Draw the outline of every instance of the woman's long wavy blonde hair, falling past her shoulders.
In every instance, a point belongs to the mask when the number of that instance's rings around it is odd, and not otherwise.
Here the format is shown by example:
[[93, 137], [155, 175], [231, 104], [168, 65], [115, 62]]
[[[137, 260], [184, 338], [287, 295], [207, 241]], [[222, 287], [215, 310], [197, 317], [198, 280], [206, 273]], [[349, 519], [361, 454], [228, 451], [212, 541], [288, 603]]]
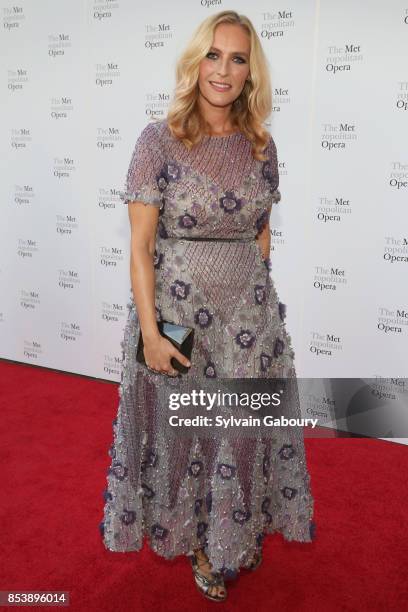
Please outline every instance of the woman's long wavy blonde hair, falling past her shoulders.
[[250, 38], [250, 77], [232, 104], [231, 119], [234, 128], [252, 142], [253, 157], [265, 161], [262, 151], [270, 134], [262, 124], [272, 109], [269, 66], [251, 21], [235, 11], [221, 11], [207, 17], [194, 32], [177, 62], [176, 87], [167, 113], [167, 124], [172, 135], [182, 140], [188, 149], [198, 144], [206, 133], [207, 122], [197, 104], [199, 65], [209, 52], [215, 28], [220, 23], [238, 24]]

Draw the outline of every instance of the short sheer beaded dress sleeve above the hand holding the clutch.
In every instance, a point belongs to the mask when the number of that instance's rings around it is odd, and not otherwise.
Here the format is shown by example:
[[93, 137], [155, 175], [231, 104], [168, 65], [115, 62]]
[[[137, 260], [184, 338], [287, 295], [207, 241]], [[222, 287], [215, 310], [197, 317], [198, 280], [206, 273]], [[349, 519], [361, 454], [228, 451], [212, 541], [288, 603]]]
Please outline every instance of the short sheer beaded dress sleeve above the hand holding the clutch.
[[142, 130], [133, 149], [127, 172], [125, 190], [120, 198], [125, 204], [135, 200], [160, 207], [164, 182], [160, 181], [164, 154], [154, 123]]

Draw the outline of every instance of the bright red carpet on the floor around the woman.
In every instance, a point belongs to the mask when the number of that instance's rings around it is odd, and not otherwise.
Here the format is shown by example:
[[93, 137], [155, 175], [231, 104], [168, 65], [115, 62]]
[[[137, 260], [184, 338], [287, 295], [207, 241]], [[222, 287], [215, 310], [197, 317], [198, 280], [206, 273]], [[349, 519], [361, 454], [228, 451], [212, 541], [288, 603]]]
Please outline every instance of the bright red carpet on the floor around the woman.
[[207, 603], [186, 558], [103, 547], [117, 385], [1, 360], [0, 380], [0, 590], [69, 591], [73, 612], [407, 609], [406, 446], [306, 439], [316, 540], [268, 536], [261, 567]]

